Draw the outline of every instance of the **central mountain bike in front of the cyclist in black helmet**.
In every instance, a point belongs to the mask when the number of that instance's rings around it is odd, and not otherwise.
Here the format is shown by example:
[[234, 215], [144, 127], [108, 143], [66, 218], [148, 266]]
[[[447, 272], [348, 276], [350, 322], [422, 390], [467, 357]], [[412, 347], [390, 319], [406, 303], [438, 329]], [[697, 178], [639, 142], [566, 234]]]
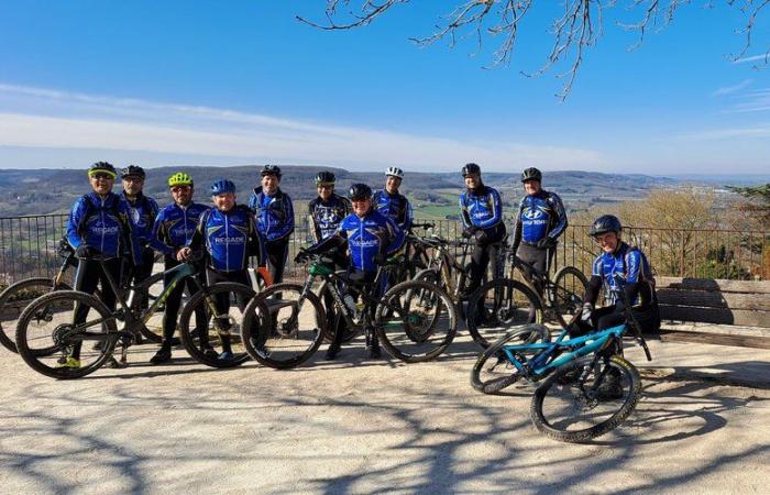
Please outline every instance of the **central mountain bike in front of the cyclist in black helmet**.
[[[275, 367], [295, 367], [318, 350], [327, 317], [321, 299], [311, 290], [315, 279], [327, 282], [334, 301], [337, 318], [348, 328], [364, 333], [366, 345], [376, 332], [387, 352], [407, 363], [439, 356], [454, 339], [457, 317], [447, 293], [419, 280], [407, 280], [377, 295], [392, 267], [400, 258], [389, 258], [380, 266], [372, 284], [362, 288], [360, 280], [346, 272], [334, 271], [333, 260], [323, 255], [309, 257], [310, 268], [304, 285], [277, 284], [260, 293], [246, 307], [242, 340], [246, 352], [260, 363]], [[353, 304], [351, 288], [361, 298]], [[411, 305], [408, 295], [415, 289], [432, 295], [430, 309]], [[438, 316], [437, 316], [438, 315]]]

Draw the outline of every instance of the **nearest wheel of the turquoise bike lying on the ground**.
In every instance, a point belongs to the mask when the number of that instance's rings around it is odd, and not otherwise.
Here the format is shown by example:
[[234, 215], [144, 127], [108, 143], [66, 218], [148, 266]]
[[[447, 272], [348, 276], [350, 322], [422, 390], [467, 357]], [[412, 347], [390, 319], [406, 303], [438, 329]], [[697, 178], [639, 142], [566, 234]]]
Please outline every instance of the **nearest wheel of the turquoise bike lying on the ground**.
[[[530, 416], [535, 427], [547, 437], [563, 442], [584, 442], [617, 428], [636, 407], [641, 395], [641, 378], [637, 369], [617, 354], [600, 359], [594, 366], [592, 366], [593, 360], [593, 356], [583, 358], [560, 367], [535, 391]], [[619, 389], [623, 391], [622, 397], [610, 397], [606, 393], [596, 391], [598, 386], [595, 383], [592, 384], [587, 394], [584, 391], [574, 391], [581, 378], [585, 378], [584, 383], [588, 383], [588, 376], [582, 376], [583, 374], [595, 377], [598, 372], [598, 376], [604, 375], [603, 380], [607, 380], [608, 372], [603, 371], [604, 367], [609, 367], [610, 371], [614, 370], [619, 375], [617, 380], [618, 384], [620, 384]], [[566, 391], [565, 398], [562, 400], [565, 404], [564, 406], [560, 406], [561, 402], [553, 397], [562, 391]], [[586, 405], [586, 400], [591, 404]], [[572, 418], [568, 417], [557, 421], [556, 418], [550, 417], [550, 410], [549, 417], [547, 417], [543, 411], [544, 407], [550, 409], [550, 404], [544, 405], [547, 402], [553, 402], [558, 406], [554, 408], [557, 411], [574, 410], [582, 413], [584, 408], [590, 407], [591, 415], [585, 420], [588, 426], [571, 429], [569, 421]], [[595, 404], [593, 404], [594, 402]], [[606, 415], [608, 416], [606, 419], [596, 422], [595, 419], [600, 411], [595, 409], [600, 405], [606, 405], [603, 409], [607, 411]]]

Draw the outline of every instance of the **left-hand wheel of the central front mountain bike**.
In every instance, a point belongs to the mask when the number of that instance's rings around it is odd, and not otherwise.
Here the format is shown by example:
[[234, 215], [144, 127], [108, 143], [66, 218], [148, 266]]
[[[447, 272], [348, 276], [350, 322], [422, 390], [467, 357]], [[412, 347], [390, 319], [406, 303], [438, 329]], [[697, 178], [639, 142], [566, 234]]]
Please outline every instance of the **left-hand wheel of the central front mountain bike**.
[[[309, 360], [323, 342], [326, 312], [320, 298], [311, 292], [305, 295], [305, 302], [311, 306], [310, 315], [298, 315], [301, 311], [299, 308], [297, 315], [293, 315], [298, 318], [296, 327], [286, 328], [282, 323], [278, 329], [279, 321], [273, 324], [273, 315], [277, 316], [280, 309], [271, 312], [271, 296], [280, 293], [283, 300], [290, 300], [290, 297], [286, 297], [287, 293], [294, 292], [298, 298], [302, 289], [304, 286], [299, 284], [276, 284], [257, 294], [246, 306], [241, 338], [249, 355], [260, 364], [276, 370], [297, 367]], [[321, 328], [310, 328], [300, 334], [299, 320], [302, 316], [315, 319]], [[304, 345], [297, 344], [300, 338]]]

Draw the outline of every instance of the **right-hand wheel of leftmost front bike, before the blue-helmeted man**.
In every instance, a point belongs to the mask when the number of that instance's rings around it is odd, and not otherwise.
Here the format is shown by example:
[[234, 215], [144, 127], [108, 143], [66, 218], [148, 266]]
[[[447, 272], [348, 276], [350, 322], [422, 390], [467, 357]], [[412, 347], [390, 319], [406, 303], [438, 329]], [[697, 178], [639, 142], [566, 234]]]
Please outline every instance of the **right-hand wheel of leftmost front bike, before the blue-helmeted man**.
[[[229, 359], [222, 359], [219, 356], [219, 353], [217, 353], [217, 356], [213, 355], [213, 353], [209, 352], [209, 350], [213, 350], [213, 345], [207, 345], [211, 341], [216, 342], [216, 339], [219, 340], [220, 343], [223, 342], [222, 337], [228, 336], [232, 344], [238, 344], [241, 343], [241, 329], [238, 328], [234, 331], [231, 329], [227, 330], [227, 333], [220, 333], [216, 328], [212, 328], [210, 324], [208, 324], [208, 321], [212, 319], [212, 305], [216, 305], [215, 299], [218, 295], [235, 295], [237, 298], [240, 298], [244, 301], [244, 308], [241, 310], [241, 317], [244, 316], [245, 307], [248, 306], [248, 301], [251, 300], [254, 297], [254, 290], [243, 284], [238, 284], [234, 282], [221, 282], [219, 284], [213, 284], [208, 287], [204, 287], [202, 289], [198, 290], [191, 298], [190, 300], [185, 305], [184, 309], [182, 310], [182, 315], [179, 315], [179, 338], [182, 340], [182, 344], [185, 346], [185, 350], [187, 353], [196, 361], [198, 361], [201, 364], [206, 364], [207, 366], [211, 367], [234, 367], [234, 366], [240, 366], [241, 364], [245, 363], [249, 361], [249, 354], [245, 352], [234, 352], [232, 358]], [[193, 334], [190, 331], [190, 318], [195, 315], [195, 310], [198, 309], [199, 306], [204, 306], [205, 311], [206, 311], [206, 321], [207, 321], [207, 328], [206, 328], [206, 336], [207, 339], [201, 341], [200, 339], [200, 329], [197, 329], [198, 332], [196, 334]], [[238, 307], [238, 305], [235, 305]], [[230, 312], [233, 311], [233, 305], [230, 305]], [[230, 312], [228, 315], [230, 315]], [[223, 316], [222, 316], [223, 317]], [[228, 317], [228, 321], [232, 328], [232, 323], [230, 320], [234, 319], [233, 316]], [[241, 319], [240, 322], [235, 322], [235, 326], [240, 326], [241, 328], [243, 327], [245, 318]], [[215, 321], [215, 326], [216, 326]], [[212, 332], [213, 333], [212, 333]], [[233, 337], [238, 337], [238, 339], [233, 342]], [[215, 351], [216, 352], [216, 351]]]

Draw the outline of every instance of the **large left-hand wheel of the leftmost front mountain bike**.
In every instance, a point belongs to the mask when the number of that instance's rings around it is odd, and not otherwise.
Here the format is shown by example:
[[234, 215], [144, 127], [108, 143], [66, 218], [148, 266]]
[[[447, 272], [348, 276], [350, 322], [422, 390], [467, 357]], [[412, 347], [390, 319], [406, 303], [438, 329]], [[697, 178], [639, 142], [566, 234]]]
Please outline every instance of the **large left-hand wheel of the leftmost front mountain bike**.
[[[73, 323], [76, 314], [84, 321]], [[112, 355], [118, 336], [112, 312], [90, 294], [57, 290], [32, 301], [19, 317], [19, 355], [34, 371], [52, 378], [79, 378]], [[95, 343], [101, 342], [98, 349]], [[61, 367], [79, 353], [79, 367]]]

